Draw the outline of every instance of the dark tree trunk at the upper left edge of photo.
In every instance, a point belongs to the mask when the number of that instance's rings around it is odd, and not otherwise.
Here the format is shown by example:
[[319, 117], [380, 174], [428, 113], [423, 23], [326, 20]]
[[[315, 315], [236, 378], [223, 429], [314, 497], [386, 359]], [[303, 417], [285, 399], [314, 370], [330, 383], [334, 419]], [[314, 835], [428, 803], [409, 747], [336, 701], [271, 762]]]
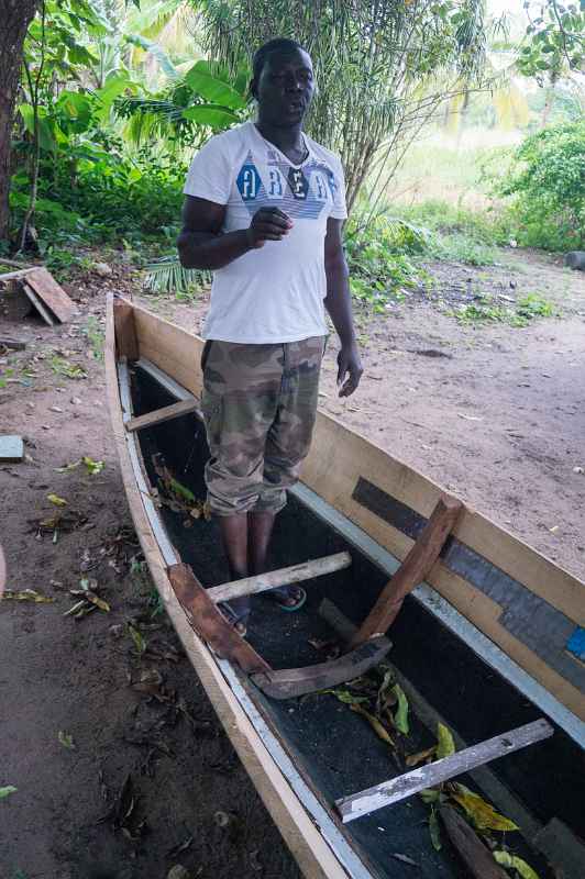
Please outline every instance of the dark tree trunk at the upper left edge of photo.
[[10, 147], [24, 37], [38, 0], [0, 0], [0, 241], [8, 235]]

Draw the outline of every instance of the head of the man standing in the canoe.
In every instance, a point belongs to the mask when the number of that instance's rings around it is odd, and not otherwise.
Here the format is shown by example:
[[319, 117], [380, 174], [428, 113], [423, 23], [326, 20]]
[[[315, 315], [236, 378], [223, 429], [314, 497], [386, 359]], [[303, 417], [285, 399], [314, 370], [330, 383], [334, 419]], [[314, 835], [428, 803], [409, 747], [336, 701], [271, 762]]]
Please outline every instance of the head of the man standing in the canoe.
[[253, 59], [250, 90], [258, 102], [260, 121], [297, 125], [309, 109], [314, 91], [309, 54], [294, 40], [271, 40]]

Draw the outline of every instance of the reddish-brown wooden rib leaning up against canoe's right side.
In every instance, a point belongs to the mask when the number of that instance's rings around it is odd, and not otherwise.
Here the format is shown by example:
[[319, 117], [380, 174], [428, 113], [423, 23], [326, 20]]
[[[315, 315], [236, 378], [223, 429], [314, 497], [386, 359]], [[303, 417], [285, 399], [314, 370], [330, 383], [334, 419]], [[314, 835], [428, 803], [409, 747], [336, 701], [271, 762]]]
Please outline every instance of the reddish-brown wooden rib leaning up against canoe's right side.
[[362, 644], [372, 635], [384, 635], [396, 620], [406, 596], [424, 580], [439, 558], [446, 538], [463, 512], [457, 498], [439, 498], [431, 518], [400, 568], [382, 590], [378, 600], [353, 636], [351, 645]]

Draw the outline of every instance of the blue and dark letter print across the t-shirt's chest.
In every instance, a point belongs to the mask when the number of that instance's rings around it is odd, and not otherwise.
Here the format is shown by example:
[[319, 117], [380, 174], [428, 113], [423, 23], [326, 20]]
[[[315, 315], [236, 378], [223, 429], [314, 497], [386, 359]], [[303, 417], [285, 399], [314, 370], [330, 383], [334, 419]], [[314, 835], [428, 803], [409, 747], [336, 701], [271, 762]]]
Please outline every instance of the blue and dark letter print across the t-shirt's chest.
[[302, 220], [317, 220], [328, 200], [334, 200], [338, 189], [331, 168], [314, 159], [295, 168], [273, 158], [263, 180], [252, 153], [240, 168], [235, 183], [251, 215], [278, 202], [289, 216]]

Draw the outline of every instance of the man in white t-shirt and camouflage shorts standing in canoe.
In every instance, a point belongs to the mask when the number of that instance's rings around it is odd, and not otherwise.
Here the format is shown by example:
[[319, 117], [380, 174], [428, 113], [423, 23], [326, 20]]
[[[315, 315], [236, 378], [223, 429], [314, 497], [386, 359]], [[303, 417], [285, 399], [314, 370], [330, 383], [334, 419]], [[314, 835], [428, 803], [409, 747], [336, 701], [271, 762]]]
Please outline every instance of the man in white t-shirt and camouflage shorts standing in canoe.
[[[184, 190], [181, 264], [213, 270], [201, 363], [206, 482], [232, 579], [266, 570], [276, 513], [308, 454], [323, 305], [341, 342], [340, 397], [362, 375], [342, 246], [343, 170], [302, 131], [313, 90], [311, 59], [298, 43], [263, 45], [251, 84], [257, 121], [211, 137]], [[272, 594], [287, 611], [306, 599], [297, 586]], [[245, 634], [250, 600], [222, 610]]]

